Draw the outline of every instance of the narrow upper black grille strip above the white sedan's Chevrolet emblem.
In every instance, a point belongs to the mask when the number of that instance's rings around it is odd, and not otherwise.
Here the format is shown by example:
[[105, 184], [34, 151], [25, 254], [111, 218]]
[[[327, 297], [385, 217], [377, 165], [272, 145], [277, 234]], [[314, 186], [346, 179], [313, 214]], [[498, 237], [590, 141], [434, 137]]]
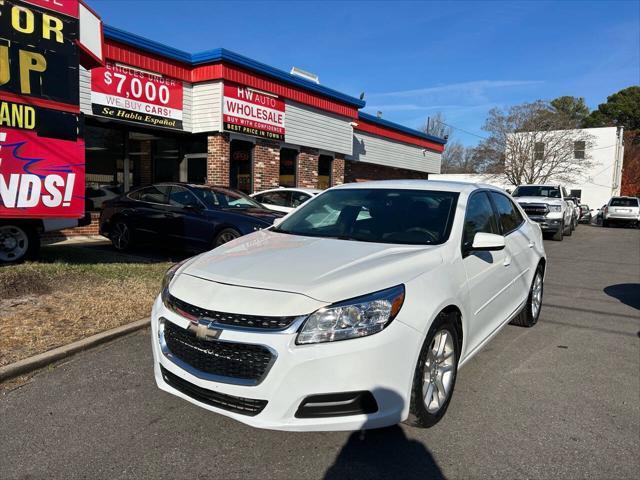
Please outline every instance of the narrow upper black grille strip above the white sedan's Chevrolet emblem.
[[298, 317], [263, 317], [258, 315], [242, 315], [239, 313], [225, 313], [196, 307], [169, 294], [167, 306], [178, 313], [186, 313], [193, 318], [206, 318], [218, 325], [255, 328], [263, 330], [284, 330]]

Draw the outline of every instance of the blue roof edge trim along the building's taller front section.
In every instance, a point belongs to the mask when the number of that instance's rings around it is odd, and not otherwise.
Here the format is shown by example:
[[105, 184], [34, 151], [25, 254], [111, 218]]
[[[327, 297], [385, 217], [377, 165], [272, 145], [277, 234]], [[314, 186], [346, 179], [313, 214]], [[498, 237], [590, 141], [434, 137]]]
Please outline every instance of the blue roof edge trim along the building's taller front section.
[[362, 108], [366, 104], [363, 100], [360, 100], [358, 98], [338, 92], [337, 90], [333, 90], [332, 88], [318, 85], [309, 80], [296, 77], [294, 75], [291, 75], [290, 73], [285, 72], [284, 70], [271, 67], [267, 64], [258, 62], [225, 48], [216, 48], [213, 50], [191, 54], [183, 50], [178, 50], [177, 48], [169, 47], [168, 45], [165, 45], [163, 43], [156, 42], [155, 40], [149, 40], [148, 38], [141, 37], [140, 35], [129, 33], [109, 25], [104, 26], [104, 36], [111, 40], [131, 45], [141, 50], [155, 53], [156, 55], [167, 57], [191, 66], [224, 61], [275, 78], [277, 80], [296, 85], [306, 90], [311, 90], [321, 95], [338, 100], [342, 103], [346, 103], [347, 105]]

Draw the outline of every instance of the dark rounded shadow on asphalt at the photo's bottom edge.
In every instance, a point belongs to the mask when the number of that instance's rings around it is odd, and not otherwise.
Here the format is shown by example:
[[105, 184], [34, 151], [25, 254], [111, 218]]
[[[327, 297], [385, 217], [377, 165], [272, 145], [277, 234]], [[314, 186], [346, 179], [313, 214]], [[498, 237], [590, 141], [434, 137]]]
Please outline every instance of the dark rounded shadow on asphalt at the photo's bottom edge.
[[431, 453], [394, 425], [351, 434], [324, 476], [325, 480], [343, 478], [441, 480], [445, 477]]

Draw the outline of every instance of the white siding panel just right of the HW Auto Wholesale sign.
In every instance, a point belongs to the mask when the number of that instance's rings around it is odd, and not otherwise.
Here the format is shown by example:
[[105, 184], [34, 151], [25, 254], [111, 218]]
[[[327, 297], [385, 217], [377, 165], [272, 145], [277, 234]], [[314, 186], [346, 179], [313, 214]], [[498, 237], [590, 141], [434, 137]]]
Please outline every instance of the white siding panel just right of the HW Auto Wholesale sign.
[[287, 143], [330, 152], [351, 154], [351, 120], [287, 100], [285, 102]]

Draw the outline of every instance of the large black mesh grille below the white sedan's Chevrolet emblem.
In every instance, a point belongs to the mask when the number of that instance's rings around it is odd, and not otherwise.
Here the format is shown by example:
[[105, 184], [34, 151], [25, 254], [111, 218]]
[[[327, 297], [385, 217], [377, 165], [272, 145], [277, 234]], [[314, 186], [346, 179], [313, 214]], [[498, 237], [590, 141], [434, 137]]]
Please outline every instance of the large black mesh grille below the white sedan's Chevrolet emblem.
[[256, 384], [262, 380], [274, 356], [262, 345], [200, 340], [187, 329], [164, 323], [164, 341], [173, 356], [200, 372], [216, 375], [221, 382], [234, 380]]

